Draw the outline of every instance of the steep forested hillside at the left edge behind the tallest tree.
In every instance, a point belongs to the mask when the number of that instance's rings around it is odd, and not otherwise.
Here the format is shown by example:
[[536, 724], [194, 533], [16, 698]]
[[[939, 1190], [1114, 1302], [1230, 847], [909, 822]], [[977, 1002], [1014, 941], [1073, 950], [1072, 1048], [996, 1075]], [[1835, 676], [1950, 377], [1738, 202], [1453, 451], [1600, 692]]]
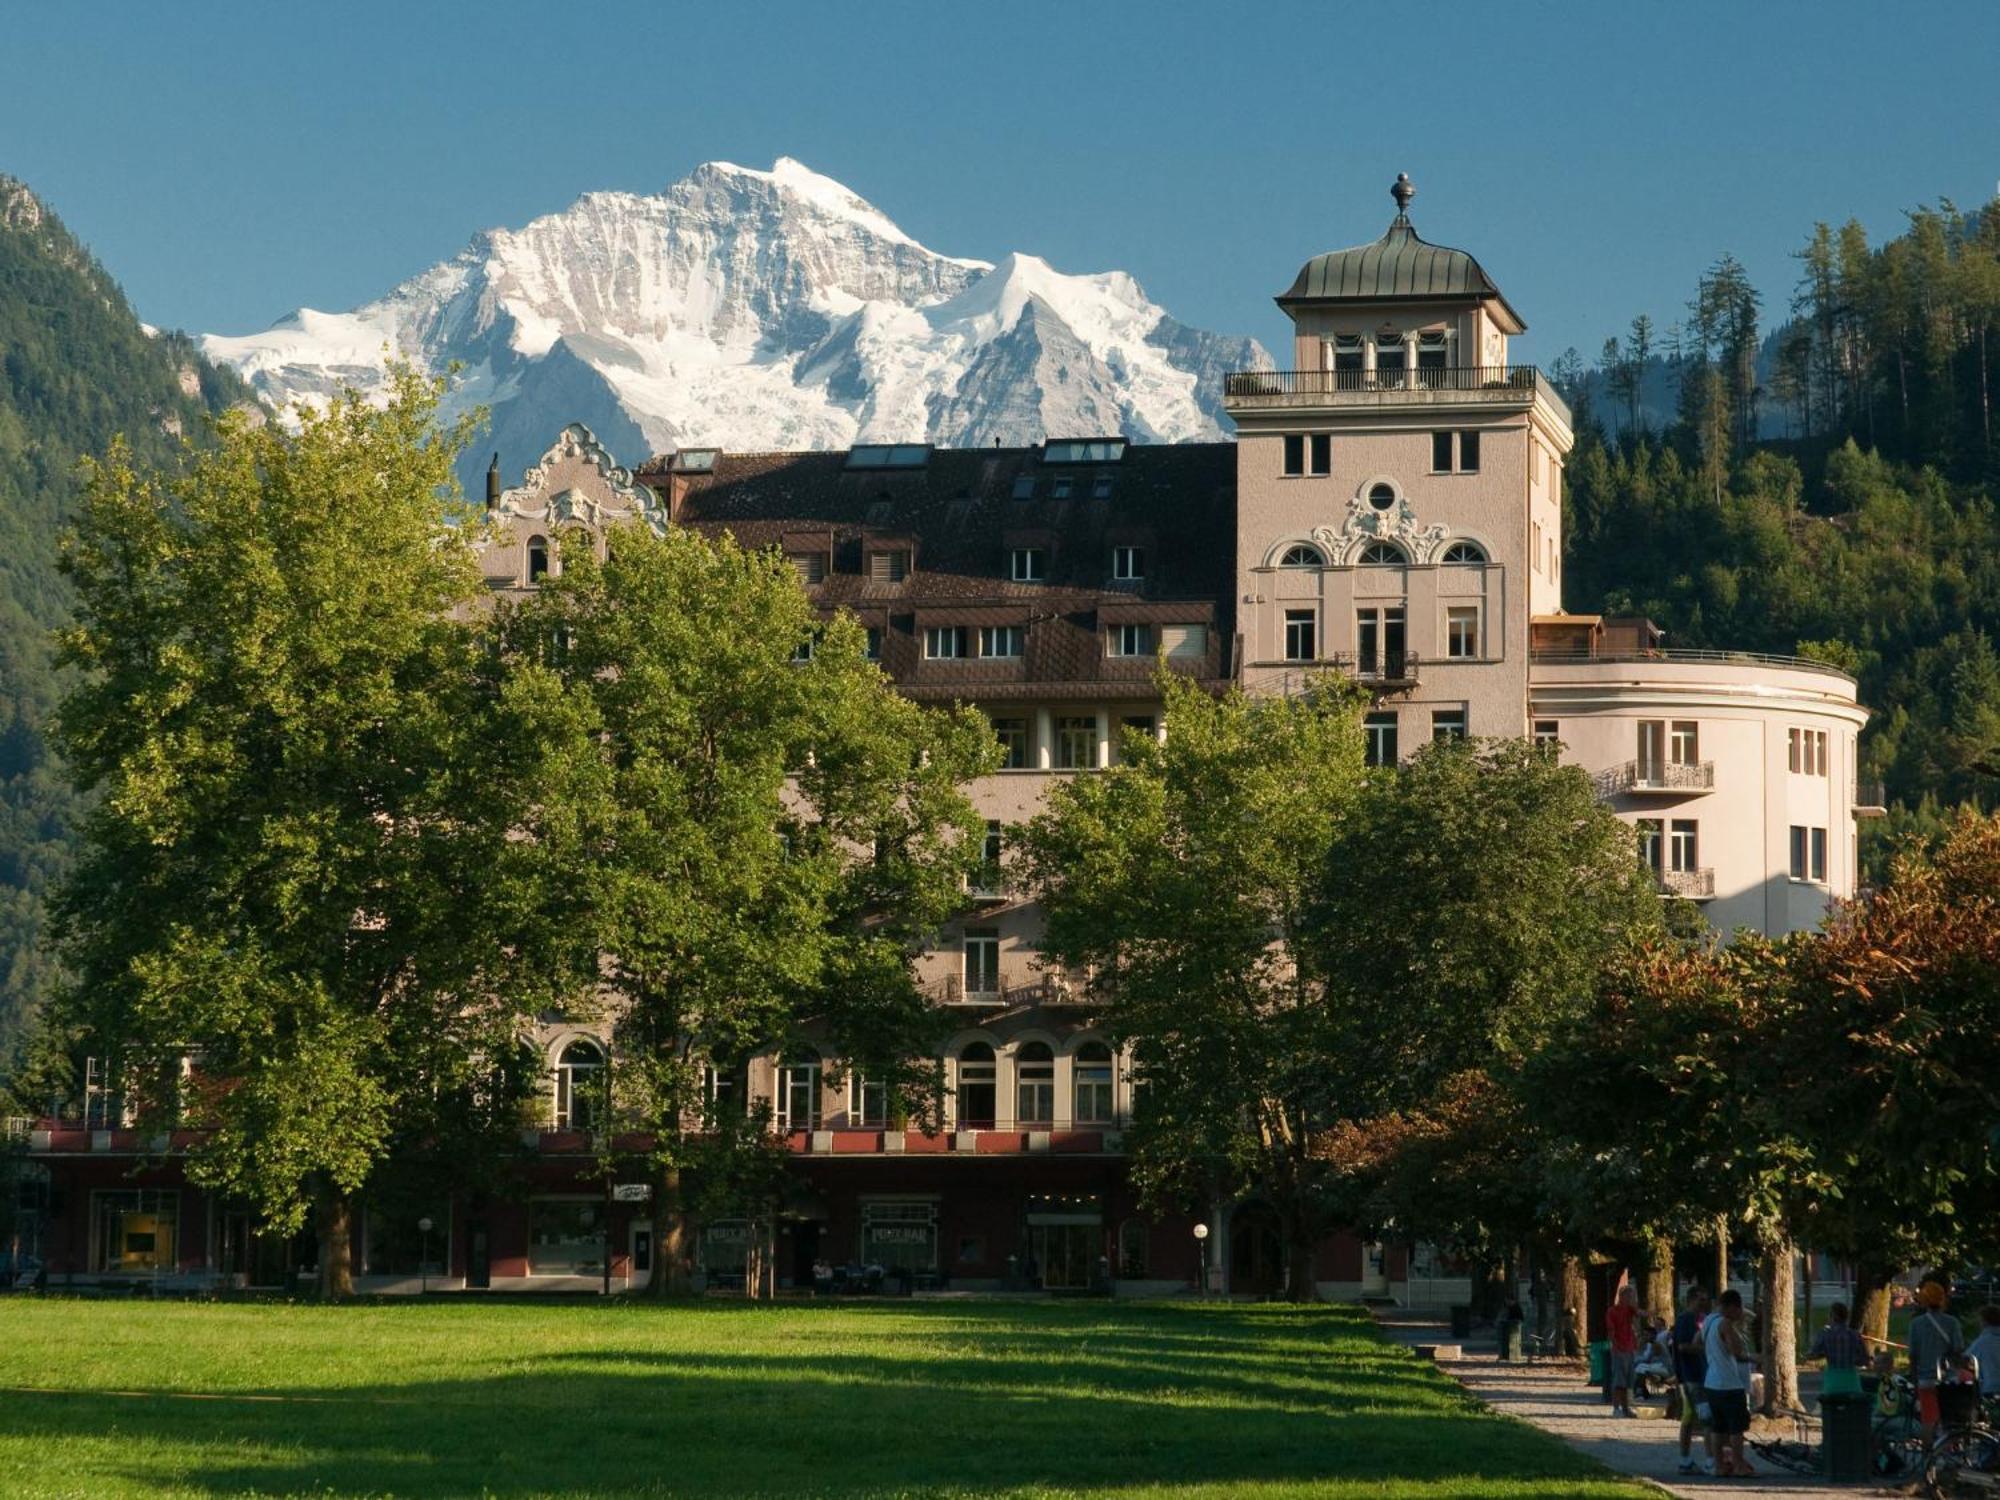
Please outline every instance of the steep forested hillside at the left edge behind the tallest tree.
[[202, 418], [240, 400], [246, 386], [188, 338], [148, 336], [56, 216], [0, 176], [0, 1074], [48, 990], [38, 936], [70, 844], [72, 796], [44, 724], [78, 458], [124, 434], [140, 462], [174, 464], [182, 436], [200, 440]]

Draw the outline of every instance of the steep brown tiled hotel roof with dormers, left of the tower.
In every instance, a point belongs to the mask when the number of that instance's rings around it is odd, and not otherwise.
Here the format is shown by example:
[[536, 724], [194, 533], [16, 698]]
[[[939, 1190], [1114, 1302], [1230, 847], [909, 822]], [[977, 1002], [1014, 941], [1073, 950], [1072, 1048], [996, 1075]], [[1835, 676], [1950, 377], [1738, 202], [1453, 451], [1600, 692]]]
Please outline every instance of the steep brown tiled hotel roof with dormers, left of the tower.
[[[1068, 498], [1056, 500], [1056, 480]], [[1110, 494], [1098, 496], [1100, 476]], [[884, 628], [882, 666], [920, 698], [1148, 696], [1152, 662], [1104, 650], [1110, 622], [1204, 624], [1208, 652], [1176, 668], [1230, 670], [1236, 446], [1128, 444], [1116, 464], [1042, 464], [1040, 448], [934, 448], [922, 468], [852, 470], [844, 452], [722, 454], [706, 474], [664, 460], [636, 476], [678, 524], [744, 546], [814, 550], [832, 566], [810, 586], [828, 612]], [[1016, 498], [1026, 486], [1028, 498]], [[866, 554], [908, 546], [900, 582]], [[1010, 578], [1014, 546], [1046, 546], [1048, 582]], [[1114, 582], [1112, 546], [1144, 548], [1144, 580]], [[926, 626], [1026, 626], [1020, 660], [926, 660]], [[974, 642], [968, 640], [968, 646]]]

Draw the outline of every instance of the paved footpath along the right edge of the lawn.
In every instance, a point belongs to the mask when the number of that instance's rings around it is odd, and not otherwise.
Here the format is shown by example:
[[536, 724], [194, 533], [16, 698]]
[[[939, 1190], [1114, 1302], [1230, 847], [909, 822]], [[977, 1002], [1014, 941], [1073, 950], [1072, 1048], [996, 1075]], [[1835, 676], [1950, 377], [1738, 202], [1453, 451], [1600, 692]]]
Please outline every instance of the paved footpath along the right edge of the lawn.
[[[1376, 1322], [1382, 1332], [1404, 1344], [1454, 1346], [1446, 1324], [1426, 1312], [1406, 1312], [1402, 1308], [1376, 1308]], [[1640, 1408], [1652, 1412], [1636, 1422], [1616, 1418], [1610, 1406], [1598, 1396], [1596, 1386], [1586, 1386], [1582, 1364], [1536, 1362], [1500, 1364], [1492, 1356], [1492, 1334], [1478, 1332], [1464, 1344], [1470, 1358], [1438, 1360], [1438, 1368], [1458, 1380], [1466, 1390], [1506, 1416], [1518, 1416], [1544, 1432], [1552, 1432], [1578, 1452], [1590, 1454], [1606, 1468], [1616, 1468], [1634, 1478], [1658, 1484], [1668, 1494], [1706, 1496], [1718, 1494], [1784, 1496], [1784, 1500], [1856, 1500], [1856, 1496], [1890, 1496], [1904, 1490], [1884, 1490], [1868, 1484], [1828, 1484], [1826, 1480], [1788, 1474], [1756, 1450], [1746, 1458], [1756, 1466], [1756, 1476], [1722, 1480], [1710, 1474], [1680, 1474], [1680, 1424], [1668, 1422], [1662, 1408]], [[1700, 1454], [1700, 1444], [1696, 1444]]]

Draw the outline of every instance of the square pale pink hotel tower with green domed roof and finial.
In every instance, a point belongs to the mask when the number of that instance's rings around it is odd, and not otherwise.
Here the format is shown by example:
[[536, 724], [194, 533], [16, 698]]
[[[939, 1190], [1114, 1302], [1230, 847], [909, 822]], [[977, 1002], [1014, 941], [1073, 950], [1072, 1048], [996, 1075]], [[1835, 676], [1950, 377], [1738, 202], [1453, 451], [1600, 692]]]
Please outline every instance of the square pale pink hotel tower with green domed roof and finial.
[[1562, 608], [1570, 412], [1478, 260], [1410, 222], [1308, 260], [1278, 296], [1292, 370], [1228, 378], [1238, 662], [1250, 690], [1338, 670], [1376, 694], [1370, 754], [1528, 734], [1528, 624]]

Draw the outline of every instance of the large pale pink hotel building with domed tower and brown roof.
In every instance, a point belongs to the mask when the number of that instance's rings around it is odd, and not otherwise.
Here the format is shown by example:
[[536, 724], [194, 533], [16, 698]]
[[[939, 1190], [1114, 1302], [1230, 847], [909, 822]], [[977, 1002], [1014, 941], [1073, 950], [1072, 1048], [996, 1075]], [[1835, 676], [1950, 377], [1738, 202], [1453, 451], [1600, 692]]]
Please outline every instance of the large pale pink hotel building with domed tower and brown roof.
[[[1234, 442], [684, 446], [630, 472], [570, 426], [518, 488], [492, 482], [506, 522], [486, 556], [494, 594], [558, 570], [558, 532], [730, 532], [780, 548], [822, 612], [858, 616], [902, 692], [976, 704], [1006, 746], [1006, 768], [972, 788], [1000, 874], [918, 958], [940, 1016], [944, 1130], [894, 1128], [878, 1092], [836, 1086], [838, 1058], [812, 1050], [774, 1050], [744, 1080], [796, 1164], [780, 1284], [824, 1260], [918, 1288], [1166, 1292], [1206, 1262], [1212, 1286], [1276, 1290], [1284, 1260], [1260, 1204], [1138, 1204], [1120, 1152], [1124, 1058], [1036, 964], [1040, 914], [1006, 876], [1008, 830], [1050, 782], [1110, 766], [1126, 732], [1162, 732], [1162, 654], [1216, 690], [1356, 678], [1380, 764], [1440, 736], [1554, 742], [1632, 824], [1662, 898], [1724, 932], [1806, 928], [1854, 890], [1854, 820], [1874, 810], [1856, 798], [1854, 682], [1564, 610], [1570, 412], [1536, 368], [1508, 362], [1524, 324], [1492, 278], [1418, 238], [1406, 178], [1394, 196], [1382, 238], [1314, 256], [1278, 296], [1294, 368], [1228, 378]], [[520, 1194], [438, 1202], [428, 1230], [364, 1208], [364, 1290], [584, 1290], [604, 1284], [606, 1258], [614, 1286], [652, 1272], [648, 1204], [606, 1202], [588, 1150], [580, 1082], [614, 1060], [612, 1038], [550, 1024], [536, 1040], [548, 1108], [522, 1132]], [[258, 1286], [310, 1260], [124, 1126], [96, 1076], [60, 1118], [26, 1126], [44, 1208], [30, 1250], [52, 1282]], [[704, 1226], [710, 1284], [740, 1280], [748, 1234]], [[1328, 1294], [1452, 1292], [1424, 1246], [1350, 1236], [1322, 1246], [1316, 1276]]]

